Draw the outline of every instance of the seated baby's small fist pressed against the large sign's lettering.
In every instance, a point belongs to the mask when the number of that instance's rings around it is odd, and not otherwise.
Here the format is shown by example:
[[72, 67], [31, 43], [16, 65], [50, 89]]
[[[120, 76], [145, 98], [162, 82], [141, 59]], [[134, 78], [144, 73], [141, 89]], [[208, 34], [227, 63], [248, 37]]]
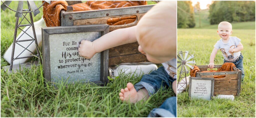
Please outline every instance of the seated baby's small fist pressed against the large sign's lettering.
[[82, 40], [78, 48], [78, 54], [84, 58], [90, 59], [96, 54], [93, 48], [93, 42]]

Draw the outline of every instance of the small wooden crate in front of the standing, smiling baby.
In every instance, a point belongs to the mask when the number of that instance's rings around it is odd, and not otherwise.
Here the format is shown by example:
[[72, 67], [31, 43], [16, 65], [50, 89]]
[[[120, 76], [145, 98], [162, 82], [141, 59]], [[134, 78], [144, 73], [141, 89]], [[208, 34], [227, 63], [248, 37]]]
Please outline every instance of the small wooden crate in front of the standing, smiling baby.
[[[214, 65], [215, 68], [220, 68], [222, 65]], [[197, 65], [200, 72], [196, 73], [196, 77], [210, 77], [214, 75], [226, 75], [224, 78], [214, 79], [214, 95], [240, 95], [241, 88], [241, 70], [233, 67], [234, 71], [227, 72], [201, 72], [208, 69], [208, 65]]]

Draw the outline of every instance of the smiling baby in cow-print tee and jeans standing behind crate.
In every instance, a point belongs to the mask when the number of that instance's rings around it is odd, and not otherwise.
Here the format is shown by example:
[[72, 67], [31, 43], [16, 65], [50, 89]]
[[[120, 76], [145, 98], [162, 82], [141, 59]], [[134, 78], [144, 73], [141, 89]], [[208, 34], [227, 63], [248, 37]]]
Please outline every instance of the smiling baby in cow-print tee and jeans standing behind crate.
[[214, 68], [214, 58], [218, 49], [220, 49], [224, 57], [224, 63], [232, 62], [236, 65], [236, 67], [239, 70], [242, 71], [243, 81], [243, 56], [240, 52], [243, 49], [243, 45], [240, 42], [241, 40], [235, 36], [230, 36], [232, 34], [232, 25], [226, 21], [219, 23], [217, 33], [219, 34], [221, 39], [217, 41], [217, 43], [214, 45], [214, 49], [212, 50], [210, 56], [210, 63], [208, 64], [208, 67], [210, 69]]

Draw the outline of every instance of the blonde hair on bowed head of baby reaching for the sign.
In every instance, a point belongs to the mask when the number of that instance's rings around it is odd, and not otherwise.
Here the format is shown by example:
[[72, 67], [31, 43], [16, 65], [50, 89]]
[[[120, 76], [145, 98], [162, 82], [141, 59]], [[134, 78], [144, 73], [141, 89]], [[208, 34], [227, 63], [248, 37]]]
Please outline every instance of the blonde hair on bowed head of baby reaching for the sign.
[[176, 1], [161, 1], [151, 8], [137, 24], [138, 43], [144, 48], [176, 51], [176, 9]]

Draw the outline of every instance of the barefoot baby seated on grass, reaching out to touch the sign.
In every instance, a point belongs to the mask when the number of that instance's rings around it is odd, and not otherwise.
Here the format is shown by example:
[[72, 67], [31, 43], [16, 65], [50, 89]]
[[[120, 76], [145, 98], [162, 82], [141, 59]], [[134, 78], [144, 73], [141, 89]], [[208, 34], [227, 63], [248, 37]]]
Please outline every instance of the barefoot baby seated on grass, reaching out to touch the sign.
[[[162, 63], [163, 66], [142, 76], [141, 81], [121, 89], [119, 98], [126, 102], [147, 100], [163, 87], [172, 85], [176, 94], [176, 1], [162, 1], [149, 10], [136, 26], [114, 30], [90, 42], [83, 40], [79, 55], [91, 58], [95, 53], [119, 45], [138, 42], [138, 51], [146, 55], [148, 61]], [[149, 117], [176, 117], [176, 97], [170, 97], [153, 109]]]

